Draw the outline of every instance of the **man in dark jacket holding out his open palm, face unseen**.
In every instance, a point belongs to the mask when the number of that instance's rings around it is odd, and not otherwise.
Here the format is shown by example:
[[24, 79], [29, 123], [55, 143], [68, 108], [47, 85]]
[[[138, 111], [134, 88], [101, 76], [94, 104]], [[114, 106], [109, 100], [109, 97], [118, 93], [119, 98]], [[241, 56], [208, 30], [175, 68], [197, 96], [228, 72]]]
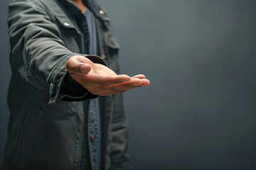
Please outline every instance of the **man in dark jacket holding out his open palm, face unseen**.
[[131, 169], [122, 92], [149, 80], [117, 75], [105, 10], [95, 0], [14, 0], [9, 35], [3, 169]]

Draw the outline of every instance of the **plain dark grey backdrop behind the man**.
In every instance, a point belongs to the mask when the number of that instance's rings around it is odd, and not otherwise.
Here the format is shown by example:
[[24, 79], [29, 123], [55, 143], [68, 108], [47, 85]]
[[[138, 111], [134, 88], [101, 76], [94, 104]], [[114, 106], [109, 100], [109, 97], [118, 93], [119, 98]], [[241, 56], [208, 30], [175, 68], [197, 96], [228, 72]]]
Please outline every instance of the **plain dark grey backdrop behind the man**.
[[[100, 1], [122, 73], [151, 80], [124, 94], [134, 169], [256, 169], [256, 1]], [[1, 160], [11, 73], [0, 3]]]

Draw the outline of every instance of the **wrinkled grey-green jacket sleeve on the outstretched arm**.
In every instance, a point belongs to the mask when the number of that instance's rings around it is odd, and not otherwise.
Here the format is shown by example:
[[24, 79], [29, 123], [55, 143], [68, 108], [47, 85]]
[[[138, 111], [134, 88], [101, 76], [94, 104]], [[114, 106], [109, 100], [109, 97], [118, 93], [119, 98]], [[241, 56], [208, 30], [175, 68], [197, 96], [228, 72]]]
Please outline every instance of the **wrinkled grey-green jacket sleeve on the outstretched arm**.
[[40, 1], [33, 0], [13, 1], [10, 4], [10, 62], [12, 69], [17, 69], [25, 81], [48, 91], [49, 103], [54, 103], [60, 99], [67, 74], [66, 62], [80, 54], [64, 46], [58, 27], [43, 8]]

